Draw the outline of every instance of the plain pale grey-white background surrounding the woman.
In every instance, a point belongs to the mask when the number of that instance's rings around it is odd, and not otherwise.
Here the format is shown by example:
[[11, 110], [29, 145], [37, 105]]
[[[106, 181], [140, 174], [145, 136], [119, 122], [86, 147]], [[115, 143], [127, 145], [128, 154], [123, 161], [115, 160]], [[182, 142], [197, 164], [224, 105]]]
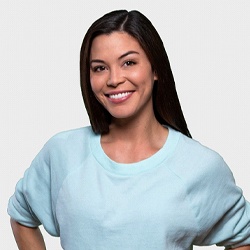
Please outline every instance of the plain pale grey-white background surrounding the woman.
[[[17, 249], [7, 202], [33, 157], [55, 133], [89, 124], [80, 45], [114, 9], [138, 9], [155, 25], [192, 136], [224, 157], [250, 200], [249, 0], [1, 0], [0, 249]], [[60, 249], [58, 238], [45, 238]]]

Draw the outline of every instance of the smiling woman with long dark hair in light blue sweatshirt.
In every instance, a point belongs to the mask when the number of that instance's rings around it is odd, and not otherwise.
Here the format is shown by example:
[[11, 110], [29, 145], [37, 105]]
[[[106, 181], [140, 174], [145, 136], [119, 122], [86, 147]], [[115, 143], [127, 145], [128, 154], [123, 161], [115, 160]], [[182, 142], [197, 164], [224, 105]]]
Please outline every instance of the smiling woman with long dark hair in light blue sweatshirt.
[[91, 127], [52, 137], [9, 202], [20, 249], [250, 249], [250, 204], [222, 157], [191, 139], [163, 43], [137, 11], [83, 40]]

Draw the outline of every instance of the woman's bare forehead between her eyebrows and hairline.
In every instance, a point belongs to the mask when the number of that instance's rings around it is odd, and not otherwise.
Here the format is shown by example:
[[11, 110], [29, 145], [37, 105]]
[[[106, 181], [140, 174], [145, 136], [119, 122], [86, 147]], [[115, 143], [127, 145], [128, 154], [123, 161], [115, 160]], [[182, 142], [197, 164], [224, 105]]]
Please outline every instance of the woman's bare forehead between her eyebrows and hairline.
[[126, 32], [112, 32], [111, 34], [103, 34], [94, 38], [90, 57], [114, 54], [119, 56], [119, 54], [130, 50], [145, 54], [136, 38]]

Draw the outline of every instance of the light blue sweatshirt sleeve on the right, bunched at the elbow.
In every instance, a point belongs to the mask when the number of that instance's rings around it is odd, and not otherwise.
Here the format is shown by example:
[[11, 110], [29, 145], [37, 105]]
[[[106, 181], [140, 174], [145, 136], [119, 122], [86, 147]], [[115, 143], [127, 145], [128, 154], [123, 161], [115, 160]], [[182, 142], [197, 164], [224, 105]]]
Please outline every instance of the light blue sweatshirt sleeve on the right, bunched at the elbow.
[[191, 192], [200, 227], [195, 245], [216, 244], [226, 249], [249, 245], [250, 204], [224, 160], [217, 157], [200, 180]]

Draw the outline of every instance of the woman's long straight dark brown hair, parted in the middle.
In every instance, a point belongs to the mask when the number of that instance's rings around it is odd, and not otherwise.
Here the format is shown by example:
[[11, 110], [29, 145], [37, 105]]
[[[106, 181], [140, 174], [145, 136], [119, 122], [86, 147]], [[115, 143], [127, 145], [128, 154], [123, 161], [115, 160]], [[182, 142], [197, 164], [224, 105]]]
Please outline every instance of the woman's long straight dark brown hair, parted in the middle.
[[156, 119], [191, 137], [175, 88], [174, 77], [163, 42], [152, 23], [139, 11], [116, 10], [96, 20], [88, 29], [80, 53], [83, 100], [95, 133], [108, 133], [111, 115], [97, 101], [90, 85], [90, 49], [95, 37], [123, 31], [133, 36], [145, 51], [156, 72], [153, 108]]

